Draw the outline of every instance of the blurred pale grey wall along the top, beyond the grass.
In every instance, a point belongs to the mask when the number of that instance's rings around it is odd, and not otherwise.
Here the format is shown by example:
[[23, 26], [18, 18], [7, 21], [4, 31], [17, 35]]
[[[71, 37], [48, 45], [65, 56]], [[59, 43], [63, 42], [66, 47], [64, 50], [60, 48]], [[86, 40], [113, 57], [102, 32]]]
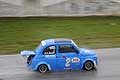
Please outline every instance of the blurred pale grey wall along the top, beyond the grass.
[[120, 15], [119, 0], [0, 0], [0, 16]]

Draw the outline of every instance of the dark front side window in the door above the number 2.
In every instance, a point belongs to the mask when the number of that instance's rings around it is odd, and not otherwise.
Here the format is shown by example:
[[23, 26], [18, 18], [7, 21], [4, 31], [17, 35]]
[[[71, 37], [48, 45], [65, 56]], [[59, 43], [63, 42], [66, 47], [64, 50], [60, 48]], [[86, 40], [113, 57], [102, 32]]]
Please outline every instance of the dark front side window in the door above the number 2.
[[59, 53], [76, 52], [76, 50], [72, 45], [60, 45], [58, 50], [59, 50]]

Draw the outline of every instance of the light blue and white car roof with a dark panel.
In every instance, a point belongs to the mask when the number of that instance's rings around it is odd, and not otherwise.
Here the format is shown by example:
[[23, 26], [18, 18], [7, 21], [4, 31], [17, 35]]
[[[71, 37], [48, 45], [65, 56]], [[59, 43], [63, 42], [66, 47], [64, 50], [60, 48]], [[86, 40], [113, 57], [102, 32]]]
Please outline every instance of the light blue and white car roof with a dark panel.
[[46, 45], [52, 45], [52, 44], [65, 44], [65, 43], [72, 43], [72, 39], [68, 38], [56, 38], [56, 39], [47, 39], [43, 40], [44, 44]]

